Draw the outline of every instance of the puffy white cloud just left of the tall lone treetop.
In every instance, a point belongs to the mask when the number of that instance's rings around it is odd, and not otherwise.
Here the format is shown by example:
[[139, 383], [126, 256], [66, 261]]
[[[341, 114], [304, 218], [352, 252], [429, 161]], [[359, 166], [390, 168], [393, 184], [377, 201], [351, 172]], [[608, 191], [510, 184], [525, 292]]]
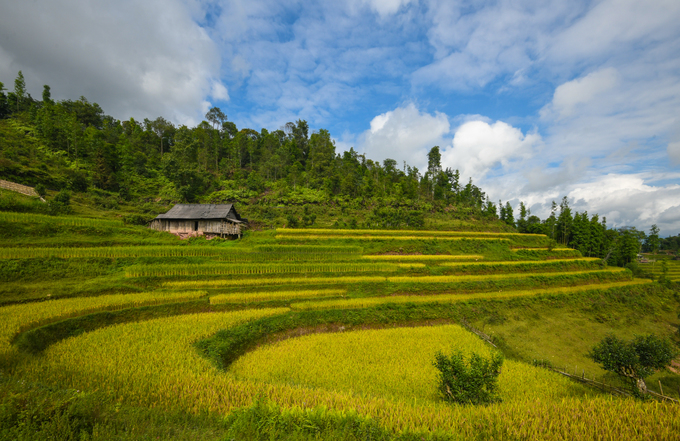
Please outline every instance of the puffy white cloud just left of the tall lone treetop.
[[406, 161], [422, 170], [427, 164], [427, 152], [435, 145], [443, 145], [449, 130], [445, 114], [421, 113], [409, 103], [374, 117], [371, 128], [362, 135], [361, 146], [373, 160]]

